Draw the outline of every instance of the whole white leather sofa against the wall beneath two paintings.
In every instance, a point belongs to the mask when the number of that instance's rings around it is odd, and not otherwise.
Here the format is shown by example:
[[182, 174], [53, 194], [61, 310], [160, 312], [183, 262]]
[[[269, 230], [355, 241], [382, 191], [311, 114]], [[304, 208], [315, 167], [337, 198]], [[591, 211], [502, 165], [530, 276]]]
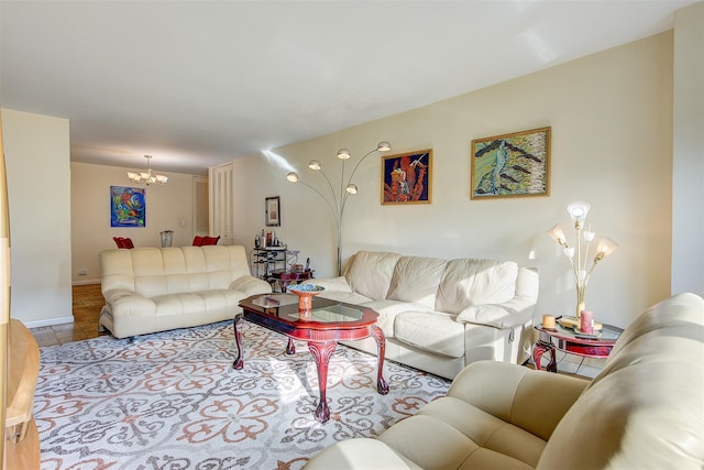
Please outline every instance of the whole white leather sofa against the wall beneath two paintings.
[[[510, 261], [360, 251], [342, 276], [306, 283], [377, 311], [386, 359], [436, 375], [453, 379], [484, 359], [521, 363], [530, 353], [538, 272]], [[373, 338], [345, 345], [376, 354]]]

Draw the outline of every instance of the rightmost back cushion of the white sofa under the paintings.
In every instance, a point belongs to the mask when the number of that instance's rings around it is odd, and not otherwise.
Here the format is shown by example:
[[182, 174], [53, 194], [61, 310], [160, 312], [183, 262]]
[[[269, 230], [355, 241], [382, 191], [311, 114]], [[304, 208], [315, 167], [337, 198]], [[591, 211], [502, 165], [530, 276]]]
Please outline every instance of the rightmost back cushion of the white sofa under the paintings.
[[518, 265], [513, 261], [448, 261], [436, 309], [459, 314], [472, 305], [502, 304], [514, 298]]

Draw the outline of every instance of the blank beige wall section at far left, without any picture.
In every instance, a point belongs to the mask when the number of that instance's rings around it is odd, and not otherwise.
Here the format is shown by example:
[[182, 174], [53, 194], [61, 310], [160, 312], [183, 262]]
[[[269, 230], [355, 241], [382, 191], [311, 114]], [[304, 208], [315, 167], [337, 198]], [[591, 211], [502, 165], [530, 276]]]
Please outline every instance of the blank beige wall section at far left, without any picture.
[[73, 321], [67, 119], [2, 109], [12, 256], [11, 316]]

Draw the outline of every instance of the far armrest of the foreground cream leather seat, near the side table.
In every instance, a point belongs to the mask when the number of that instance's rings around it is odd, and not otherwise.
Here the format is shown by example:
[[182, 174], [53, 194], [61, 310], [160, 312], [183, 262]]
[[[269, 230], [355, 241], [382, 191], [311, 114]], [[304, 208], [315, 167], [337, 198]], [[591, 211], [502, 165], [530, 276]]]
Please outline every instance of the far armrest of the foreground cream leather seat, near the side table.
[[507, 362], [477, 361], [458, 374], [448, 396], [548, 440], [588, 383]]

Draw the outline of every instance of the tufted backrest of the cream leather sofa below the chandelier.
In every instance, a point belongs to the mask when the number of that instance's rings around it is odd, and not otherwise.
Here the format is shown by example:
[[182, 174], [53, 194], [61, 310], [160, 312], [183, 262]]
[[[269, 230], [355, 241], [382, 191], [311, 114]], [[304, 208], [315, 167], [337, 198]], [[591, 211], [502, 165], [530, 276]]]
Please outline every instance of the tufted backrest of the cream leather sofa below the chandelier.
[[145, 297], [228, 288], [250, 274], [244, 247], [174, 247], [100, 253], [102, 292], [125, 289]]

